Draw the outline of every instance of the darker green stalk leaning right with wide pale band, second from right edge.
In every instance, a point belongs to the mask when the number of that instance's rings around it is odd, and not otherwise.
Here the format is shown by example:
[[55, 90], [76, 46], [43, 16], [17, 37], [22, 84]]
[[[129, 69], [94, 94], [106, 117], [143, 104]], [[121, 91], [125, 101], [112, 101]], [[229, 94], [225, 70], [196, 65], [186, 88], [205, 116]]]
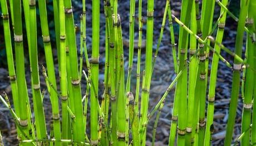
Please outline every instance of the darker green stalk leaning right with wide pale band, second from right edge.
[[[239, 14], [237, 37], [235, 39], [235, 54], [237, 54], [239, 57], [242, 54], [243, 36], [244, 36], [243, 34], [244, 34], [244, 26], [245, 26], [245, 19], [247, 16], [248, 6], [249, 6], [249, 0], [245, 0], [242, 3], [242, 8]], [[233, 128], [235, 123], [235, 115], [237, 111], [237, 103], [238, 103], [238, 96], [239, 96], [241, 66], [242, 64], [240, 64], [240, 62], [238, 62], [237, 59], [234, 59], [232, 93], [231, 93], [231, 101], [230, 101], [230, 108], [229, 108], [227, 133], [226, 133], [224, 145], [230, 145], [232, 143]]]

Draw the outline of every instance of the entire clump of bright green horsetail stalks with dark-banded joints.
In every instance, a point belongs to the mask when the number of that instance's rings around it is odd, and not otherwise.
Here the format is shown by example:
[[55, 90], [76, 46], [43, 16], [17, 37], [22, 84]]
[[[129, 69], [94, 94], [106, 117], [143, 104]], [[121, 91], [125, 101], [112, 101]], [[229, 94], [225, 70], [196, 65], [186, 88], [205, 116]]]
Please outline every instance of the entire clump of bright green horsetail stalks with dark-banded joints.
[[[155, 118], [152, 130], [152, 145], [156, 143], [157, 124], [160, 121], [161, 110], [169, 100], [168, 94], [175, 87], [173, 111], [170, 125], [169, 145], [211, 145], [214, 133], [214, 102], [217, 84], [219, 60], [233, 69], [232, 93], [229, 108], [229, 118], [225, 145], [232, 144], [232, 133], [240, 90], [240, 70], [243, 64], [242, 99], [242, 132], [234, 141], [241, 145], [256, 143], [254, 97], [255, 80], [255, 30], [256, 13], [253, 9], [255, 1], [242, 0], [241, 11], [237, 18], [228, 9], [228, 1], [216, 1], [220, 7], [219, 17], [213, 23], [215, 2], [198, 0], [183, 0], [181, 3], [180, 19], [171, 10], [172, 1], [166, 0], [160, 35], [154, 48], [154, 1], [147, 1], [146, 21], [146, 50], [142, 51], [142, 3], [138, 2], [139, 29], [136, 38], [136, 1], [130, 0], [129, 16], [129, 56], [127, 57], [127, 72], [125, 69], [126, 56], [123, 44], [122, 14], [119, 14], [119, 1], [104, 0], [105, 13], [105, 69], [104, 85], [99, 82], [100, 74], [100, 1], [92, 1], [92, 47], [91, 58], [86, 46], [86, 1], [82, 1], [80, 16], [80, 39], [76, 38], [77, 25], [75, 22], [70, 0], [53, 0], [55, 24], [55, 41], [58, 59], [58, 74], [55, 71], [55, 54], [51, 45], [48, 26], [46, 1], [35, 0], [9, 2], [11, 14], [8, 13], [6, 0], [0, 0], [4, 27], [4, 43], [6, 45], [9, 79], [12, 88], [14, 109], [6, 93], [0, 100], [9, 109], [16, 124], [19, 144], [21, 145], [146, 145], [147, 125]], [[50, 5], [50, 4], [49, 4]], [[27, 80], [25, 78], [25, 56], [23, 47], [22, 11], [27, 32], [29, 63], [31, 67], [33, 110], [30, 108]], [[47, 121], [44, 114], [44, 100], [47, 94], [41, 92], [40, 69], [38, 68], [37, 15], [42, 30], [43, 48], [45, 49], [46, 68], [42, 66], [46, 89], [52, 106], [50, 132], [47, 132]], [[238, 22], [235, 52], [225, 47], [224, 28], [226, 17], [229, 15]], [[11, 28], [9, 16], [14, 28], [15, 56], [12, 52]], [[168, 17], [168, 18], [167, 18]], [[151, 97], [150, 84], [153, 77], [156, 59], [160, 52], [164, 36], [166, 19], [169, 21], [170, 50], [174, 61], [174, 79], [154, 107], [149, 106]], [[178, 56], [176, 56], [175, 31], [173, 22], [178, 23]], [[245, 25], [246, 24], [246, 25]], [[216, 31], [216, 36], [215, 32]], [[245, 58], [243, 58], [243, 34], [247, 32]], [[133, 93], [132, 67], [134, 65], [135, 39], [138, 39], [136, 84]], [[25, 40], [25, 39], [24, 39]], [[54, 40], [54, 39], [52, 39]], [[77, 48], [80, 43], [80, 51]], [[213, 47], [214, 45], [214, 47]], [[78, 45], [79, 46], [79, 45]], [[213, 56], [211, 56], [213, 52]], [[232, 65], [221, 56], [221, 51], [234, 58]], [[78, 53], [79, 52], [79, 53]], [[128, 51], [127, 51], [128, 52]], [[189, 52], [189, 57], [188, 57]], [[84, 55], [83, 55], [84, 53]], [[142, 55], [145, 53], [145, 70], [142, 73]], [[80, 54], [79, 58], [77, 54]], [[136, 53], [135, 53], [136, 55]], [[85, 58], [85, 59], [84, 59]], [[212, 58], [209, 59], [209, 58]], [[80, 61], [78, 63], [78, 60]], [[209, 62], [211, 61], [211, 62]], [[83, 62], [86, 69], [83, 68]], [[211, 66], [209, 64], [211, 63]], [[44, 63], [42, 63], [44, 64]], [[14, 68], [16, 67], [16, 68]], [[209, 67], [211, 69], [208, 71]], [[85, 70], [83, 70], [85, 69]], [[208, 72], [210, 73], [208, 85]], [[16, 77], [17, 75], [17, 77]], [[59, 77], [58, 77], [59, 75]], [[58, 85], [60, 78], [60, 85]], [[82, 93], [81, 80], [86, 80], [85, 93]], [[58, 87], [60, 86], [60, 87]], [[140, 86], [142, 89], [140, 90]], [[207, 89], [209, 88], [209, 91]], [[104, 92], [101, 95], [99, 90]], [[89, 93], [90, 92], [90, 93]], [[206, 94], [208, 100], [206, 101]], [[135, 95], [135, 96], [134, 96]], [[61, 99], [61, 109], [59, 99]], [[205, 104], [208, 104], [207, 110]], [[253, 108], [253, 111], [251, 109]], [[90, 109], [90, 122], [87, 121], [87, 111]], [[60, 113], [61, 111], [61, 113]], [[206, 112], [206, 115], [205, 115]], [[155, 115], [156, 114], [156, 115]], [[35, 115], [33, 117], [32, 115]], [[206, 119], [205, 119], [206, 117]], [[206, 122], [205, 122], [206, 120]], [[90, 124], [90, 128], [88, 125]], [[178, 130], [177, 130], [178, 129]], [[176, 131], [178, 135], [176, 135]], [[131, 134], [130, 134], [131, 133]], [[49, 134], [49, 137], [48, 137]], [[1, 134], [0, 134], [1, 137]], [[4, 140], [4, 139], [3, 139]], [[0, 140], [0, 145], [3, 141]]]

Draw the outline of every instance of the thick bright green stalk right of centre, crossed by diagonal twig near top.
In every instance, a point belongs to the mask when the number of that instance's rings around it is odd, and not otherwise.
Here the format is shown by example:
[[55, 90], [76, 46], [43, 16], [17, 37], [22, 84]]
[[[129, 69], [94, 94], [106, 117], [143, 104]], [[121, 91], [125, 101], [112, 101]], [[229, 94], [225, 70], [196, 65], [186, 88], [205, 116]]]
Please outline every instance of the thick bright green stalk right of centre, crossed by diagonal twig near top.
[[[182, 8], [183, 13], [181, 13], [181, 21], [184, 22], [185, 26], [189, 26], [190, 22], [190, 17], [191, 17], [191, 8], [193, 5], [193, 1], [188, 0], [188, 1], [183, 1], [182, 3]], [[183, 28], [180, 29], [180, 36], [179, 36], [179, 67], [178, 67], [178, 72], [182, 71], [183, 68], [183, 74], [181, 77], [177, 80], [176, 84], [176, 89], [175, 89], [175, 99], [174, 104], [178, 104], [178, 109], [176, 110], [175, 113], [173, 113], [173, 116], [177, 116], [177, 113], [179, 115], [179, 120], [178, 120], [178, 145], [185, 145], [185, 130], [186, 130], [186, 116], [187, 116], [187, 69], [186, 69], [186, 53], [188, 49], [188, 32], [184, 31]], [[178, 99], [177, 99], [178, 98]], [[178, 101], [177, 101], [178, 100]], [[178, 110], [178, 111], [177, 111]], [[175, 125], [175, 124], [174, 124]], [[175, 129], [175, 128], [174, 128]], [[174, 132], [172, 135], [175, 137]], [[173, 140], [172, 140], [173, 141]], [[174, 142], [174, 141], [173, 141]], [[171, 144], [171, 143], [169, 143]]]

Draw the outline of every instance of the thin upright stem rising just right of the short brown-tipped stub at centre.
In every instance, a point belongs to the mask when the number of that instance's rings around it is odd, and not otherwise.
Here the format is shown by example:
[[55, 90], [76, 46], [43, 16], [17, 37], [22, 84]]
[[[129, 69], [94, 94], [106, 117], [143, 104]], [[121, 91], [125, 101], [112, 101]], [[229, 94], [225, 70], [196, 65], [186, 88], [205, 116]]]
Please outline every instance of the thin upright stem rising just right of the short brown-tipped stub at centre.
[[[139, 0], [139, 41], [137, 53], [137, 71], [136, 71], [136, 93], [135, 93], [135, 112], [139, 116], [139, 94], [140, 94], [140, 59], [141, 59], [141, 39], [142, 39], [142, 0]], [[139, 119], [140, 120], [140, 119]], [[140, 128], [140, 125], [139, 125]]]

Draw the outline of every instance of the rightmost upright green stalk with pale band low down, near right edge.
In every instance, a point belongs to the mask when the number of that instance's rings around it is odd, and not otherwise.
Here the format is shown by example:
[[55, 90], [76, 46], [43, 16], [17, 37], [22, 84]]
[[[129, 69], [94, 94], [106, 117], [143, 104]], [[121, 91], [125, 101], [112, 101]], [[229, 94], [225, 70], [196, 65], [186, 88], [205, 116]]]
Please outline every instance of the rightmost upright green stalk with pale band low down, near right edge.
[[[253, 3], [255, 1], [250, 1], [248, 8], [247, 17], [247, 27], [250, 32], [254, 32], [254, 19], [253, 19]], [[253, 67], [254, 65], [254, 38], [250, 37], [247, 33], [247, 64]], [[245, 84], [244, 84], [244, 105], [243, 105], [243, 115], [242, 115], [242, 133], [244, 133], [248, 128], [250, 128], [251, 123], [251, 111], [252, 111], [252, 99], [253, 99], [253, 88], [254, 88], [254, 72], [252, 69], [246, 69], [245, 73]], [[250, 145], [250, 132], [249, 130], [244, 133], [244, 137], [241, 140], [241, 145]]]

